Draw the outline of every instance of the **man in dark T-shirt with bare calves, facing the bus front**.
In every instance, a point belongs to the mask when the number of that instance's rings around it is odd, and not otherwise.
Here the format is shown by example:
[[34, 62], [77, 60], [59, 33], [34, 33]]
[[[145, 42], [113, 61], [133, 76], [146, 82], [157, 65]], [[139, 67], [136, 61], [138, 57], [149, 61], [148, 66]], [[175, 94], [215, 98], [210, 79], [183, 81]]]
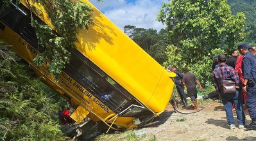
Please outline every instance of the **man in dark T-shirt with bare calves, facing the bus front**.
[[199, 110], [197, 104], [198, 90], [196, 89], [196, 83], [199, 85], [201, 91], [203, 91], [203, 87], [201, 87], [196, 75], [189, 73], [187, 68], [184, 68], [183, 71], [185, 75], [183, 76], [182, 84], [187, 87], [187, 94], [189, 94], [189, 98], [191, 98], [192, 103], [194, 104], [194, 110]]

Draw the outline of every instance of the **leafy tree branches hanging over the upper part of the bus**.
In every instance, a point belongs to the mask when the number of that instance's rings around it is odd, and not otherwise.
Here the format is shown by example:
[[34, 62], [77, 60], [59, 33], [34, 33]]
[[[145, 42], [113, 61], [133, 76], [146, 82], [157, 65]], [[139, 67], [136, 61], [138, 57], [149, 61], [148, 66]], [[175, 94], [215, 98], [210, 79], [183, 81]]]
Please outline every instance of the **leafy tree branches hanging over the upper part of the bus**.
[[[4, 0], [3, 6], [8, 6], [10, 1], [12, 0]], [[38, 66], [49, 64], [47, 69], [56, 77], [60, 75], [65, 64], [69, 63], [71, 56], [69, 49], [76, 47], [74, 43], [78, 41], [78, 29], [88, 29], [93, 23], [92, 8], [82, 1], [31, 0], [30, 2], [31, 25], [36, 29], [38, 46], [45, 50], [34, 59], [34, 62]], [[35, 20], [35, 15], [43, 17], [42, 11], [37, 10], [35, 4], [44, 8], [52, 26]]]

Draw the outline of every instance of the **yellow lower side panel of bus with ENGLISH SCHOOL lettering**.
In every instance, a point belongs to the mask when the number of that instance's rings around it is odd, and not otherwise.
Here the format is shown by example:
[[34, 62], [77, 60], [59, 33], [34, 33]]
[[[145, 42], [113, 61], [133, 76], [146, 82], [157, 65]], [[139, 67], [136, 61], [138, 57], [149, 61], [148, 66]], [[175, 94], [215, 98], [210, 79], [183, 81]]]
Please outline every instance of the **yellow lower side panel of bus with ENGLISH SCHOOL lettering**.
[[[12, 48], [15, 50], [15, 52], [25, 61], [30, 63], [38, 77], [42, 78], [42, 80], [46, 82], [49, 87], [57, 91], [62, 96], [64, 93], [67, 93], [69, 96], [71, 96], [71, 98], [74, 98], [74, 100], [78, 101], [80, 105], [83, 105], [83, 107], [89, 108], [90, 110], [93, 109], [94, 113], [99, 115], [99, 117], [102, 119], [105, 119], [105, 117], [107, 117], [109, 114], [114, 113], [106, 105], [101, 104], [98, 98], [88, 93], [85, 88], [81, 87], [78, 82], [70, 78], [67, 74], [65, 76], [62, 75], [59, 82], [55, 82], [53, 76], [45, 70], [46, 66], [44, 68], [39, 68], [33, 64], [33, 58], [35, 58], [35, 56], [37, 56], [39, 53], [37, 49], [32, 47], [28, 41], [22, 39], [21, 36], [10, 29], [10, 27], [6, 26], [5, 24], [3, 25], [5, 27], [4, 30], [0, 29], [0, 38], [3, 38], [3, 40], [5, 40], [8, 44], [12, 45]], [[92, 120], [98, 121], [99, 118], [95, 116], [95, 118]]]

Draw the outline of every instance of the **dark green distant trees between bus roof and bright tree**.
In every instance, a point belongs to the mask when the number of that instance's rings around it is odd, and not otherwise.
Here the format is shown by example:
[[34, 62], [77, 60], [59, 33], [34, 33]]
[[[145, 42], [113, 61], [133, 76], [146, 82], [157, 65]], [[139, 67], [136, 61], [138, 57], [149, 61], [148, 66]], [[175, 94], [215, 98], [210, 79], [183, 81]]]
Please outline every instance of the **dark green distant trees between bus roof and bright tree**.
[[161, 29], [159, 32], [155, 29], [136, 28], [135, 26], [124, 26], [126, 33], [143, 50], [145, 50], [158, 63], [166, 61], [165, 50], [168, 45], [167, 32]]

